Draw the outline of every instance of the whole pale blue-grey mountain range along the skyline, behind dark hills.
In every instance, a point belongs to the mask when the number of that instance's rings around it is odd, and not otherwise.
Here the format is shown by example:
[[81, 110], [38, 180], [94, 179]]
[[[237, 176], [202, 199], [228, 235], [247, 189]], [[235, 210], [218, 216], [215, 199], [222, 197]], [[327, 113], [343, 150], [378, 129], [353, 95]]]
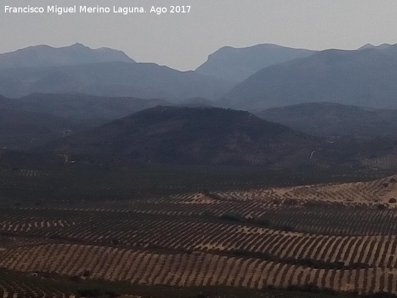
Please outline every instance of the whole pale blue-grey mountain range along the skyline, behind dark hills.
[[389, 44], [352, 51], [224, 47], [194, 72], [135, 63], [123, 52], [81, 44], [0, 55], [0, 94], [9, 98], [74, 92], [249, 111], [307, 102], [396, 109], [396, 81], [397, 45]]

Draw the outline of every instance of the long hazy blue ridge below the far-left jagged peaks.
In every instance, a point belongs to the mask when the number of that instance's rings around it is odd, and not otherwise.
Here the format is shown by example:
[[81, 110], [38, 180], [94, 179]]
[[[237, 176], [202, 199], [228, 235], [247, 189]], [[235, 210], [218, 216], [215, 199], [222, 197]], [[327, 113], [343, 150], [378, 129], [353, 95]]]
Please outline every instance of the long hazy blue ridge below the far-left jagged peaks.
[[99, 96], [133, 96], [181, 100], [213, 99], [232, 83], [194, 72], [179, 72], [153, 63], [106, 62], [0, 70], [0, 94], [79, 92]]

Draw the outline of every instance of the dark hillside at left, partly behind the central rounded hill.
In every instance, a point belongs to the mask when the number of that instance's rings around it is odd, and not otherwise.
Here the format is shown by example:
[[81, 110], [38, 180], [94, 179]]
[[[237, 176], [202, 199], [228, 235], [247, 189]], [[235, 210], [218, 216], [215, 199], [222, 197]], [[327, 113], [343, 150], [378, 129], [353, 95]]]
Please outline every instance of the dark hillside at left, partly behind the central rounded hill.
[[78, 93], [0, 96], [0, 148], [28, 149], [158, 104], [167, 102]]

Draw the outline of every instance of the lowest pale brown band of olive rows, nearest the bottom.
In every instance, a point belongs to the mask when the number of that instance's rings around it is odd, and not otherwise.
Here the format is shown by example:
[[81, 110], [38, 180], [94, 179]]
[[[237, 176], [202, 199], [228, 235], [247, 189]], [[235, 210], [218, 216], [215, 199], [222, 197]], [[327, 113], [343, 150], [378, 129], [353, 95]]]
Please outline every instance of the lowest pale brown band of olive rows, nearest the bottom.
[[0, 266], [142, 285], [226, 285], [263, 289], [313, 284], [360, 294], [396, 293], [397, 289], [397, 269], [390, 268], [314, 269], [258, 258], [67, 244], [11, 249], [1, 254]]

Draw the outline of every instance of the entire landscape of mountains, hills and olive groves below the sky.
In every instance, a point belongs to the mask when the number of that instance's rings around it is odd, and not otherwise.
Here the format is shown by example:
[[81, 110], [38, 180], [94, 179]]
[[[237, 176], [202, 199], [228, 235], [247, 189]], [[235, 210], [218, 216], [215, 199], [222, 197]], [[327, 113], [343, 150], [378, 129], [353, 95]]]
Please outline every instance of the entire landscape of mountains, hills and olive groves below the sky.
[[396, 62], [0, 54], [0, 298], [397, 297]]

